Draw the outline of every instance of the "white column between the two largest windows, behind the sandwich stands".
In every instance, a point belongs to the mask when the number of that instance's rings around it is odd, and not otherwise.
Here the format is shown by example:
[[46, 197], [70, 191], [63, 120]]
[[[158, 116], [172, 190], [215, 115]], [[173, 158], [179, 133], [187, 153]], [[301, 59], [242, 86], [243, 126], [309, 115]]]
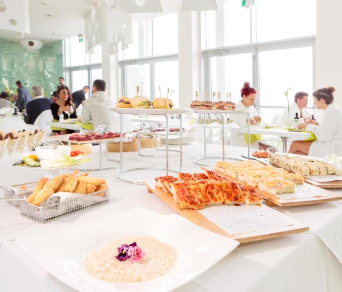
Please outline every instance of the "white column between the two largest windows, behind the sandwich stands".
[[201, 14], [178, 12], [179, 106], [189, 107], [201, 94]]

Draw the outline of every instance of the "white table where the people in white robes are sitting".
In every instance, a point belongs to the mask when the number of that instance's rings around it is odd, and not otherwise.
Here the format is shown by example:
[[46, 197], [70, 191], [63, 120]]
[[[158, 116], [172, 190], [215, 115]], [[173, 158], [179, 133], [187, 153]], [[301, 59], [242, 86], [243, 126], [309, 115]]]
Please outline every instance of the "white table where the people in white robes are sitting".
[[[231, 128], [232, 131], [236, 131], [237, 133], [247, 134], [247, 128]], [[256, 135], [273, 135], [278, 136], [283, 141], [283, 152], [287, 153], [287, 142], [289, 139], [297, 140], [297, 141], [305, 141], [310, 139], [312, 136], [311, 133], [307, 132], [293, 132], [288, 131], [287, 129], [280, 129], [280, 128], [262, 128], [262, 127], [250, 127], [249, 134], [256, 134]]]

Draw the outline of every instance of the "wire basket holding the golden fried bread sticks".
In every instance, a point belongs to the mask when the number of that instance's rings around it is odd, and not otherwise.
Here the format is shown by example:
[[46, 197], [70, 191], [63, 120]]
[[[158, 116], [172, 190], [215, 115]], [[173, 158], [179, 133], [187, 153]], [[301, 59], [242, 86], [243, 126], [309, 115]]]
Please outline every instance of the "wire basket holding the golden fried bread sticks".
[[[15, 192], [16, 187], [21, 185], [5, 187], [4, 197], [24, 198], [33, 192], [36, 184], [26, 184], [26, 192]], [[66, 198], [63, 201], [48, 206], [35, 206], [25, 200], [12, 201], [11, 203], [19, 207], [21, 216], [36, 223], [44, 224], [109, 202], [110, 191], [106, 189], [88, 195]]]

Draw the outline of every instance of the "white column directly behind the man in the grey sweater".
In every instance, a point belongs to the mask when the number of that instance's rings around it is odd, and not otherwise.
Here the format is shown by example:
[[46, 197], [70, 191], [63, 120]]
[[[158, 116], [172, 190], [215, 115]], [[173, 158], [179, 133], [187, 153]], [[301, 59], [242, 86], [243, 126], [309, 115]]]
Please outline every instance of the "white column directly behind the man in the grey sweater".
[[118, 70], [117, 54], [108, 55], [102, 49], [102, 79], [106, 81], [108, 96], [116, 100], [118, 97]]

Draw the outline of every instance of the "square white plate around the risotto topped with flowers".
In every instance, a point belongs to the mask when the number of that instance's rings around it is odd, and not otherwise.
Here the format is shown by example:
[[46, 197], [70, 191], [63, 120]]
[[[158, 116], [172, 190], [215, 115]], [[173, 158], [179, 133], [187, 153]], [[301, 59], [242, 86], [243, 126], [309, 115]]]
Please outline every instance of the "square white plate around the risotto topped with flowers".
[[[174, 266], [159, 278], [133, 284], [105, 282], [87, 272], [84, 260], [90, 251], [104, 242], [127, 237], [154, 237], [171, 244], [177, 251]], [[16, 241], [50, 274], [82, 292], [172, 291], [212, 267], [239, 244], [181, 216], [160, 215], [143, 208]]]

